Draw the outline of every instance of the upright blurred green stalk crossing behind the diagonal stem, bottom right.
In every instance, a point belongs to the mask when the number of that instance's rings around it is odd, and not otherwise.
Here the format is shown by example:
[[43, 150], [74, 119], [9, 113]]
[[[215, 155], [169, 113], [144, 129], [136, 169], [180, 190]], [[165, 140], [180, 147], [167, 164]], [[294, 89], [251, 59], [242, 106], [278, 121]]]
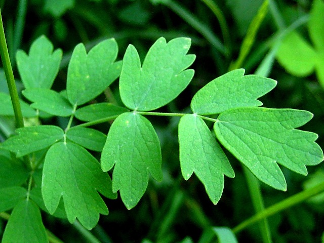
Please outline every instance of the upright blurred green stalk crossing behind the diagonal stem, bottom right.
[[[248, 168], [246, 168], [245, 166], [242, 166], [242, 168], [243, 168], [243, 172], [244, 172], [245, 178], [248, 183], [254, 210], [256, 211], [256, 213], [260, 213], [264, 210], [264, 203], [263, 203], [259, 180], [257, 178], [255, 178], [255, 176], [252, 174], [252, 172]], [[271, 243], [272, 240], [271, 240], [271, 233], [270, 233], [270, 229], [269, 229], [268, 220], [266, 218], [262, 219], [259, 222], [259, 226], [260, 226], [260, 231], [261, 231], [261, 236], [262, 236], [263, 242]]]

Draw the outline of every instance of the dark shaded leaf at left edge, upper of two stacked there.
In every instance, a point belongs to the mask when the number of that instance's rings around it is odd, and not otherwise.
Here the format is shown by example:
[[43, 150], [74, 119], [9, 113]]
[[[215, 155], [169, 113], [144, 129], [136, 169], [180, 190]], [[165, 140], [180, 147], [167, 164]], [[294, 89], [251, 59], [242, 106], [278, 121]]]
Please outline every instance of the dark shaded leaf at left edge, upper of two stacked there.
[[30, 172], [24, 167], [20, 160], [14, 162], [0, 155], [0, 161], [0, 188], [20, 186], [22, 183], [26, 182]]

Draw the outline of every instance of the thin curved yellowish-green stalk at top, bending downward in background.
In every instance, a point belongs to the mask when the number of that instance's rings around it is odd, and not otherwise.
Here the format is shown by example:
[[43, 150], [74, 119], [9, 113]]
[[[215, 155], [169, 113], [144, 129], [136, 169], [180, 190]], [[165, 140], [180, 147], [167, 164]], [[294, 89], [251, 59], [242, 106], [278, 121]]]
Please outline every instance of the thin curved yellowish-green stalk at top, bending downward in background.
[[201, 1], [204, 2], [210, 8], [210, 10], [214, 13], [215, 17], [218, 19], [218, 22], [219, 22], [219, 25], [221, 27], [221, 31], [223, 34], [224, 44], [228, 50], [229, 57], [230, 57], [231, 49], [232, 49], [231, 48], [231, 40], [230, 40], [230, 35], [229, 35], [229, 30], [228, 30], [228, 26], [226, 23], [226, 19], [223, 15], [222, 11], [219, 9], [217, 4], [212, 0], [201, 0]]

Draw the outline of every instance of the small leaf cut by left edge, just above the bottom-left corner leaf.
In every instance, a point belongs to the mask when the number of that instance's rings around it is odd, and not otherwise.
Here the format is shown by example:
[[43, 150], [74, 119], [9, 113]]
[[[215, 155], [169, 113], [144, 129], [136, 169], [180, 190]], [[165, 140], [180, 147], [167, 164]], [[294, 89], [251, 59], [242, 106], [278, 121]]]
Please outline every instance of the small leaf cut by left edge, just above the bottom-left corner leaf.
[[26, 198], [27, 191], [20, 186], [0, 189], [0, 212], [14, 208], [21, 199]]

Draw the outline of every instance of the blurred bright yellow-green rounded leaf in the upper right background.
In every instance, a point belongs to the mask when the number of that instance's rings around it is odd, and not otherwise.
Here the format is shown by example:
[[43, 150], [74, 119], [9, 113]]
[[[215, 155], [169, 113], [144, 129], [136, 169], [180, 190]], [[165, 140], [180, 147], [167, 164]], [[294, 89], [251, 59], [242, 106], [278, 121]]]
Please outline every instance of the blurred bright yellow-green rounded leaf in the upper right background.
[[312, 73], [316, 63], [315, 50], [296, 31], [285, 37], [276, 57], [288, 72], [301, 77]]

